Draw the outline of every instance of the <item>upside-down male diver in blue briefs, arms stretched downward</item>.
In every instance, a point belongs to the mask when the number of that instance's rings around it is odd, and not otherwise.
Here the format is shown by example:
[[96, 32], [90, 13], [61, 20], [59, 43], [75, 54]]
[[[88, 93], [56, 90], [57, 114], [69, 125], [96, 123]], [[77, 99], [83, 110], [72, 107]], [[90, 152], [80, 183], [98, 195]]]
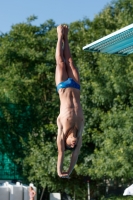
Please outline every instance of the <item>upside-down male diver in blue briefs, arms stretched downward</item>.
[[[69, 178], [82, 145], [84, 116], [80, 104], [80, 78], [71, 57], [66, 25], [57, 27], [57, 37], [55, 82], [60, 98], [57, 173], [61, 178]], [[63, 172], [64, 151], [67, 149], [72, 150], [72, 156], [68, 171]]]

